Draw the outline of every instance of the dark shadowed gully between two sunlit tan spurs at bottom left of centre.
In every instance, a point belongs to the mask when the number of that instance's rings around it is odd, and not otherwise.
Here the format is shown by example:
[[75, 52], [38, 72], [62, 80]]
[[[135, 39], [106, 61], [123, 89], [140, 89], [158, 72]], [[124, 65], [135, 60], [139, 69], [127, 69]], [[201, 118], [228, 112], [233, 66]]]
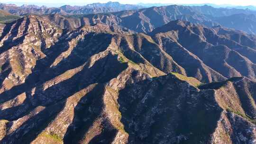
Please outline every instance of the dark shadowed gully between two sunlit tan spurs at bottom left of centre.
[[[97, 84], [80, 99], [74, 109], [73, 122], [64, 135], [64, 144], [78, 144], [103, 110], [104, 85]], [[91, 109], [91, 111], [90, 111]]]

